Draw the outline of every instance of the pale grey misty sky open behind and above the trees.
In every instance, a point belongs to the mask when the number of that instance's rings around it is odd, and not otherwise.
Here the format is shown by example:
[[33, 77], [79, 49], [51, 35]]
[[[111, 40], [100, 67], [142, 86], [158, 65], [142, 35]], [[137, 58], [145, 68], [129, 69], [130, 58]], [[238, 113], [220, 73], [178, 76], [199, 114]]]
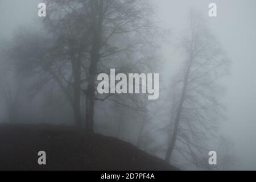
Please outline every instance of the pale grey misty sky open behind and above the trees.
[[[256, 169], [256, 1], [255, 0], [152, 0], [156, 5], [160, 26], [170, 28], [175, 42], [187, 23], [192, 7], [200, 10], [210, 28], [224, 47], [232, 68], [225, 78], [227, 92], [224, 102], [228, 108], [222, 133], [235, 144], [241, 165], [238, 169]], [[16, 28], [36, 25], [38, 0], [0, 0], [0, 38], [8, 38]], [[208, 5], [217, 4], [217, 18], [209, 18]], [[167, 63], [175, 64], [175, 49], [163, 47]], [[171, 66], [170, 66], [171, 67]], [[167, 67], [169, 68], [169, 67]], [[174, 71], [175, 67], [170, 68]]]

